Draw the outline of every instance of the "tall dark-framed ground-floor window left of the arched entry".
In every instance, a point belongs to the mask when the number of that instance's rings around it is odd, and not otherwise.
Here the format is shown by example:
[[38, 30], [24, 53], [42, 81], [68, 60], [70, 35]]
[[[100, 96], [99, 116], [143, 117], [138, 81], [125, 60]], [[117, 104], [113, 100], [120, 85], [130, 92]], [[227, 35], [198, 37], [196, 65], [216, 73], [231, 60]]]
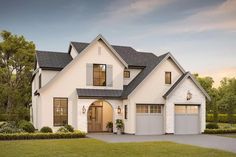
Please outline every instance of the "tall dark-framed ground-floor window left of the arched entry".
[[68, 124], [68, 98], [53, 98], [53, 125]]

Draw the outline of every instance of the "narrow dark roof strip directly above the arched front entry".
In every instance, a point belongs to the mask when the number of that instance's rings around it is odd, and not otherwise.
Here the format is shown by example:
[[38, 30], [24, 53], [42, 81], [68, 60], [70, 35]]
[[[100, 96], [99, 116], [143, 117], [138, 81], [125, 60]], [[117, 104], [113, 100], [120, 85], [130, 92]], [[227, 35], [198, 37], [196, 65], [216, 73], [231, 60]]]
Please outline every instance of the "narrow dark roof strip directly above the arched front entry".
[[77, 88], [79, 98], [121, 98], [123, 90]]

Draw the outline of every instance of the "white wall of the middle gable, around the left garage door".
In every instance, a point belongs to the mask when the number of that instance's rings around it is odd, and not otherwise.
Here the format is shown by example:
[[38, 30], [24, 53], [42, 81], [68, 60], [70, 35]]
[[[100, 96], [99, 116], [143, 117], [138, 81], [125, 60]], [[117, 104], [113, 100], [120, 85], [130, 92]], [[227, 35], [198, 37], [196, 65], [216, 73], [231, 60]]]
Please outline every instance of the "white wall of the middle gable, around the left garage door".
[[[165, 84], [165, 72], [170, 71], [172, 84]], [[167, 59], [157, 66], [144, 81], [136, 87], [131, 93], [128, 100], [129, 119], [126, 121], [127, 133], [134, 134], [136, 129], [136, 104], [165, 104], [162, 97], [165, 92], [173, 85], [174, 82], [182, 75], [180, 69], [171, 59]], [[165, 109], [165, 105], [164, 105]], [[165, 113], [164, 113], [165, 117]]]

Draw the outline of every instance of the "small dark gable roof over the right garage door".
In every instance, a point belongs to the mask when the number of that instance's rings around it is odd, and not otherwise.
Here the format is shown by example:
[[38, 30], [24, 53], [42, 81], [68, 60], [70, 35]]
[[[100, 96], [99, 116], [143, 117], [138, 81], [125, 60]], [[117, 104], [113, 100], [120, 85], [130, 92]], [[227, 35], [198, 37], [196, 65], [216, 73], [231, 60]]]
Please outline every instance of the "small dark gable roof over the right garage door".
[[190, 78], [193, 83], [200, 89], [200, 91], [205, 95], [205, 97], [210, 101], [211, 98], [207, 92], [202, 88], [202, 86], [196, 81], [196, 79], [191, 75], [190, 72], [184, 73], [172, 86], [171, 88], [163, 95], [163, 98], [167, 98], [177, 87], [187, 78]]

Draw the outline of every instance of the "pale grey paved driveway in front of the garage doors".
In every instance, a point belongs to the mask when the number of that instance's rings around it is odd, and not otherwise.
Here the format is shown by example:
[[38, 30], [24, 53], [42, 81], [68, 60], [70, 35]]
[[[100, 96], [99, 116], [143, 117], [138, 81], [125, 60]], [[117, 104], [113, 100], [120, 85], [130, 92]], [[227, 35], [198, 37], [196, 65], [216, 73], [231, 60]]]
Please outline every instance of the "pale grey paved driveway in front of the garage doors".
[[215, 135], [116, 135], [107, 133], [93, 133], [87, 135], [109, 143], [119, 142], [149, 142], [171, 141], [181, 144], [215, 148], [236, 153], [236, 138]]

